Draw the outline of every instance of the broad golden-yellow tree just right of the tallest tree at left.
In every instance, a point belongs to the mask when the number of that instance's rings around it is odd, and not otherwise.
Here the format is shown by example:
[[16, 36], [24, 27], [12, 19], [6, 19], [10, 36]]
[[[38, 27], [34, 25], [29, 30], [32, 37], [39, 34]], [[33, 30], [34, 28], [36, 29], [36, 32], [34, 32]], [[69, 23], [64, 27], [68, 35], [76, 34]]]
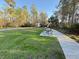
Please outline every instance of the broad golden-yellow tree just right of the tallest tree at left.
[[16, 9], [16, 15], [17, 19], [15, 20], [16, 27], [18, 26], [25, 26], [28, 19], [29, 19], [29, 13], [27, 10], [27, 7], [24, 6], [23, 8], [17, 8]]

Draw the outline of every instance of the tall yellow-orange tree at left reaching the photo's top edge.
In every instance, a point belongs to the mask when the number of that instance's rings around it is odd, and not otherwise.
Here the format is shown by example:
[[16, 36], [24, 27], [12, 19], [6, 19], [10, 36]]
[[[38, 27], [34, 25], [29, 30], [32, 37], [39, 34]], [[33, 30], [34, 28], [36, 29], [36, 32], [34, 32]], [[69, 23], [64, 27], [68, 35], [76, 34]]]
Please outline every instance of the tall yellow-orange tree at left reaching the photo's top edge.
[[7, 15], [5, 19], [7, 18], [8, 26], [13, 26], [13, 22], [16, 20], [16, 9], [14, 8], [16, 3], [14, 0], [5, 0], [5, 2], [9, 5], [9, 7], [4, 10], [5, 15]]

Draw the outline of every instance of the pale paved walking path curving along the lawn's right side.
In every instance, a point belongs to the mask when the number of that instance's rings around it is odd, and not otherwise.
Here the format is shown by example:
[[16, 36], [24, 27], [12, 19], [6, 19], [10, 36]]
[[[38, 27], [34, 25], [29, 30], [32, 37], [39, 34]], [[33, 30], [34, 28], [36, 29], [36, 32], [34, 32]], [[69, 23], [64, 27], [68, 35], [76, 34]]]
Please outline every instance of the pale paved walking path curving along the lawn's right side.
[[[75, 42], [73, 39], [62, 34], [61, 32], [58, 32], [53, 29], [52, 31], [53, 31], [53, 35], [58, 38], [66, 59], [79, 59], [79, 43]], [[45, 34], [45, 31], [42, 32], [40, 35], [52, 36]]]

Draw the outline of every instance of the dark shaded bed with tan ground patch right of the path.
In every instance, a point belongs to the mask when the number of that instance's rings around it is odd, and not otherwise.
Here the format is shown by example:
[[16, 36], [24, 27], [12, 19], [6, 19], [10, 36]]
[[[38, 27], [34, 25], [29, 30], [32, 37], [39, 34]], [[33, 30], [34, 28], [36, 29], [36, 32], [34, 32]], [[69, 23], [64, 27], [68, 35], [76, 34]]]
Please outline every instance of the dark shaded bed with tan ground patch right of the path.
[[79, 30], [56, 29], [79, 43]]

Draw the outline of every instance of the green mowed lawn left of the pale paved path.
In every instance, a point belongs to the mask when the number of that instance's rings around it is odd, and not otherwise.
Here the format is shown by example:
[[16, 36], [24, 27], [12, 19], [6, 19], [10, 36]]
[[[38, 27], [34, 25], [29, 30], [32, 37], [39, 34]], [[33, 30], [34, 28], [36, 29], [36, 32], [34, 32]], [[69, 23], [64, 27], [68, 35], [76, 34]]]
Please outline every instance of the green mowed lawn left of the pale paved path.
[[65, 59], [55, 37], [41, 37], [43, 29], [0, 32], [0, 59]]

